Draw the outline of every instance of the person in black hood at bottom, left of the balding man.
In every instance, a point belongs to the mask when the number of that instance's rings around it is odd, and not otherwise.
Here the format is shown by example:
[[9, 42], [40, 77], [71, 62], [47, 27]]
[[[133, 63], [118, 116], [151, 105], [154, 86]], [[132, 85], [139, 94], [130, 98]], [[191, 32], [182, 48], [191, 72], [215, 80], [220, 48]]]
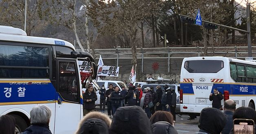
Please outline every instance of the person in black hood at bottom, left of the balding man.
[[226, 116], [216, 108], [203, 108], [199, 118], [198, 134], [220, 134], [226, 124]]

